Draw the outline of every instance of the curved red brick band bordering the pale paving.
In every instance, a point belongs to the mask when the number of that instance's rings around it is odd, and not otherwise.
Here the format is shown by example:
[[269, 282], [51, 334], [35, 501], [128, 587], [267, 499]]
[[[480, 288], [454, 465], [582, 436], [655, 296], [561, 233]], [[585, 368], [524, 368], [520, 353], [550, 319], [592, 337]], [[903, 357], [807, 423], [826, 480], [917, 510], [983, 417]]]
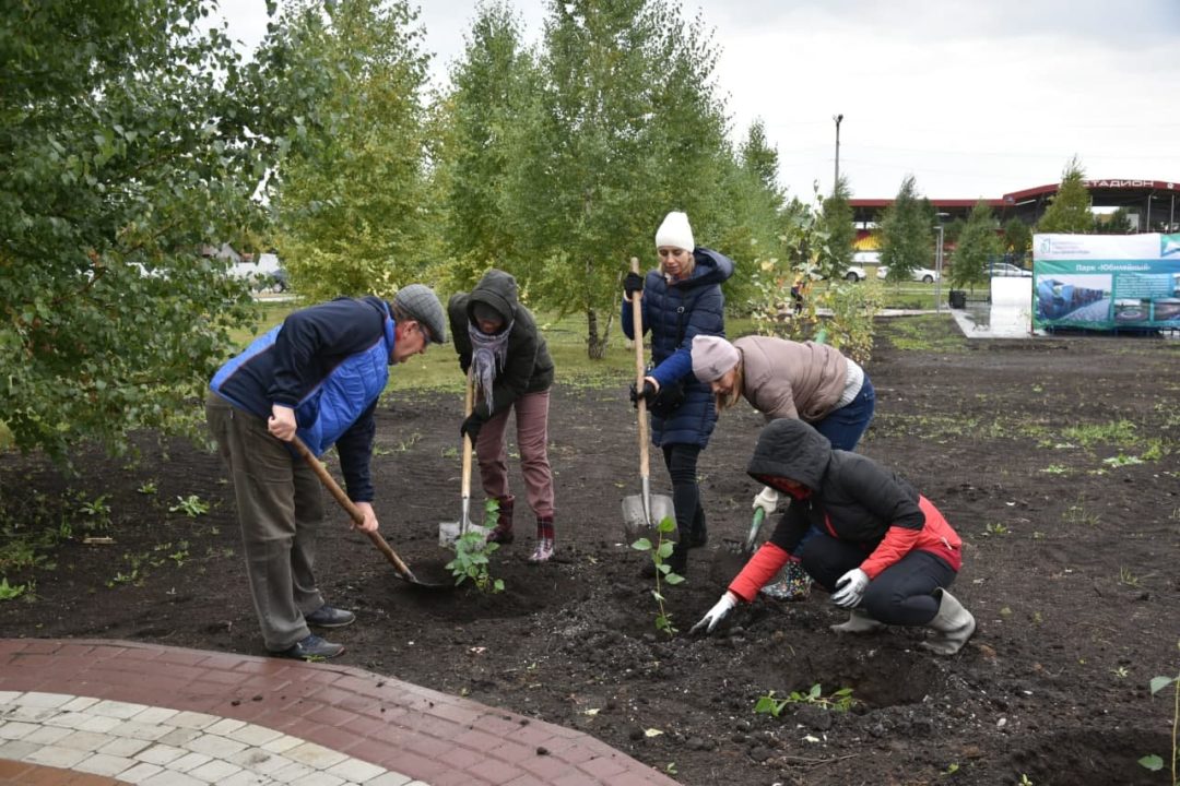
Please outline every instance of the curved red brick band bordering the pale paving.
[[[234, 718], [432, 786], [676, 782], [582, 732], [330, 663], [130, 641], [0, 639], [0, 691]], [[99, 782], [117, 781], [85, 781]]]

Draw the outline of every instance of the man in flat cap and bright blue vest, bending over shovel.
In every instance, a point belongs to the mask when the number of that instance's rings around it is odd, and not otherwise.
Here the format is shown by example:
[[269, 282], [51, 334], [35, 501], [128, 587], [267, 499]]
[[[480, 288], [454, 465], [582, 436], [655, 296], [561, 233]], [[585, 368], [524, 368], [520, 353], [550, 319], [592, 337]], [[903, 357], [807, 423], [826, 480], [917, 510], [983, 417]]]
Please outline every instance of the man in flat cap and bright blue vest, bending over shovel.
[[340, 298], [295, 311], [210, 382], [205, 416], [234, 478], [250, 594], [270, 654], [335, 658], [343, 646], [309, 627], [355, 619], [316, 588], [323, 488], [288, 443], [297, 434], [316, 456], [336, 445], [348, 496], [365, 514], [359, 528], [375, 531], [369, 457], [388, 366], [445, 341], [442, 304], [411, 284], [389, 302]]

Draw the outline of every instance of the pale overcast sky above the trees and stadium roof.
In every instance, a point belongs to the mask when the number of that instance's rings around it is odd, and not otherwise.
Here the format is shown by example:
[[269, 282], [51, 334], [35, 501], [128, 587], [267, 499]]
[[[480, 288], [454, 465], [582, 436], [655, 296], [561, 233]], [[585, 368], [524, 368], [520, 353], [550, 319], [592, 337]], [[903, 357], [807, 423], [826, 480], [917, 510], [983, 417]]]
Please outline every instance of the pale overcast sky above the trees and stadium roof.
[[[539, 41], [545, 0], [509, 0]], [[222, 0], [230, 34], [266, 29], [264, 0]], [[424, 0], [435, 80], [464, 47], [472, 0]], [[684, 0], [720, 49], [732, 136], [755, 118], [780, 184], [809, 199], [840, 173], [886, 198], [913, 174], [927, 197], [999, 197], [1087, 177], [1180, 190], [1180, 0]]]

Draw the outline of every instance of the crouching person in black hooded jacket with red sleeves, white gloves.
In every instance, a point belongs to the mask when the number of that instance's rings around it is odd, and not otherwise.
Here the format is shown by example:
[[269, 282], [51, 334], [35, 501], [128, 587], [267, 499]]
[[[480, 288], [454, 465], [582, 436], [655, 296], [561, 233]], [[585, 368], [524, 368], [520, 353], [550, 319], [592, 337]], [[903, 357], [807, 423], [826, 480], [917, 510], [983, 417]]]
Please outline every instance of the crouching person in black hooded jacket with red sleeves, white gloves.
[[[712, 632], [739, 599], [754, 600], [798, 559], [833, 603], [852, 610], [847, 622], [832, 626], [838, 633], [925, 626], [933, 636], [922, 646], [939, 655], [953, 655], [975, 633], [975, 617], [946, 592], [963, 562], [963, 541], [906, 481], [788, 418], [762, 429], [747, 471], [795, 502], [694, 632]], [[812, 526], [820, 534], [800, 546]]]

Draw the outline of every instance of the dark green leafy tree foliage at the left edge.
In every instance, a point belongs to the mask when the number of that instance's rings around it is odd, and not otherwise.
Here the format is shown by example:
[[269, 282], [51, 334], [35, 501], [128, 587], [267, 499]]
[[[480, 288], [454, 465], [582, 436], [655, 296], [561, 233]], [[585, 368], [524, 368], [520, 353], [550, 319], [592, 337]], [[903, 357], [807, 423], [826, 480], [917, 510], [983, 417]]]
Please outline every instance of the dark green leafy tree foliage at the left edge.
[[[247, 324], [201, 256], [264, 218], [251, 197], [302, 107], [278, 49], [243, 65], [211, 0], [0, 9], [0, 417], [22, 451], [112, 453], [179, 431]], [[301, 85], [304, 92], [310, 84]], [[266, 97], [266, 100], [263, 100]]]

